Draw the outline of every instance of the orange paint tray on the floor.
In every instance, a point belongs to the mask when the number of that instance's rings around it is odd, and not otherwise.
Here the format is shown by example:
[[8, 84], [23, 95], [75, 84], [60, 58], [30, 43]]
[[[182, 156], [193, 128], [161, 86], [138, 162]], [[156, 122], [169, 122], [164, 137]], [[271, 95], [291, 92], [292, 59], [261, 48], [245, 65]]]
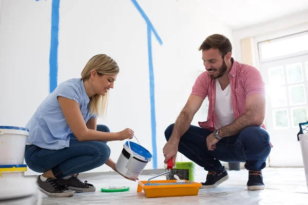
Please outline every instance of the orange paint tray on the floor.
[[138, 181], [137, 192], [144, 191], [147, 198], [170, 197], [170, 196], [196, 196], [201, 183], [186, 181], [186, 184], [174, 184], [177, 180], [151, 180], [150, 184], [172, 183], [171, 185], [146, 185], [148, 181]]

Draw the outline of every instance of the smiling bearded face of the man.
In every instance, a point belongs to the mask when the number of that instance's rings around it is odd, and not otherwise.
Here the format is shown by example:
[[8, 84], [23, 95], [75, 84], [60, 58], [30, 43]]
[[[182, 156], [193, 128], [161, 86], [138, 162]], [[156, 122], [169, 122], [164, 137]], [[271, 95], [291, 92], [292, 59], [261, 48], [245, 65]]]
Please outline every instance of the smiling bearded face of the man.
[[223, 59], [218, 49], [211, 48], [209, 50], [203, 50], [202, 59], [205, 70], [212, 79], [223, 76], [227, 71], [226, 61]]

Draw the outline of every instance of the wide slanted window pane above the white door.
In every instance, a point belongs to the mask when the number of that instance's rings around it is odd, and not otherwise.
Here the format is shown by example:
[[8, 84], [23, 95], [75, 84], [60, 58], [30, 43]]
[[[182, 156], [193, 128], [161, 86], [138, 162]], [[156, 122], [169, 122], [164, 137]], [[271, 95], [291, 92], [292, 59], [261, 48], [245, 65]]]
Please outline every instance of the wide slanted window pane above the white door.
[[262, 59], [306, 51], [308, 50], [308, 33], [267, 40], [264, 43], [260, 43], [260, 48]]

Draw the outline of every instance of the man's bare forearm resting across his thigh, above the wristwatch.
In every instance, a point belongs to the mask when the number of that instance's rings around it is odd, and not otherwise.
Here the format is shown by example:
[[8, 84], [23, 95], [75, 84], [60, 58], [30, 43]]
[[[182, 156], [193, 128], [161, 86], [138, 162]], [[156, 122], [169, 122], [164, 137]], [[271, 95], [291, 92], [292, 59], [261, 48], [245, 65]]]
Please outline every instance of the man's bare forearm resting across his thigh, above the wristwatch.
[[260, 126], [260, 123], [253, 116], [253, 113], [246, 112], [232, 122], [232, 124], [219, 128], [219, 136], [228, 137], [237, 135], [246, 127]]

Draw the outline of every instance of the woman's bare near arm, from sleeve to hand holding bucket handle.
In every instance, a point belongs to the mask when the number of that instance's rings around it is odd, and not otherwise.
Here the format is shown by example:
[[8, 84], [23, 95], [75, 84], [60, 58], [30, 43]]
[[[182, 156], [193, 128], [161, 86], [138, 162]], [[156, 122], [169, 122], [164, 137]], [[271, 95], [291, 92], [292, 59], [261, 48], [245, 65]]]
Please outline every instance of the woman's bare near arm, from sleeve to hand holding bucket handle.
[[96, 129], [88, 129], [81, 114], [79, 105], [76, 101], [61, 96], [58, 96], [57, 99], [60, 103], [63, 115], [68, 123], [68, 126], [70, 127], [78, 141], [113, 141], [124, 140], [127, 138], [131, 139], [133, 137], [133, 131], [129, 128], [117, 133], [100, 132], [96, 131]]

